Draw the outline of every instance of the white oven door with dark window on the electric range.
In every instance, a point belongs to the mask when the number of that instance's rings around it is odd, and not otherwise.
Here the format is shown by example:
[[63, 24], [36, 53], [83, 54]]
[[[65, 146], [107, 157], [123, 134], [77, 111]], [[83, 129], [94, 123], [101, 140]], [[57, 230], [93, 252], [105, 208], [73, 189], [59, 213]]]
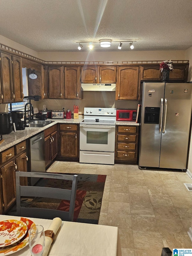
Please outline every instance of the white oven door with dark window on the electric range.
[[115, 125], [80, 124], [80, 150], [106, 151], [115, 150]]

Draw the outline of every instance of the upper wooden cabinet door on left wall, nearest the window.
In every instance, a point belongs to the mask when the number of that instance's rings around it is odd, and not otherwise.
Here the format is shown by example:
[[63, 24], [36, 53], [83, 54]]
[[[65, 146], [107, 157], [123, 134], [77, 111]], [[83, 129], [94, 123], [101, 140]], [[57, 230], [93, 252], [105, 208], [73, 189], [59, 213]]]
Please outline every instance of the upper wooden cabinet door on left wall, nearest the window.
[[14, 102], [23, 101], [23, 83], [22, 83], [22, 64], [20, 57], [12, 57], [13, 59], [13, 92], [15, 95]]

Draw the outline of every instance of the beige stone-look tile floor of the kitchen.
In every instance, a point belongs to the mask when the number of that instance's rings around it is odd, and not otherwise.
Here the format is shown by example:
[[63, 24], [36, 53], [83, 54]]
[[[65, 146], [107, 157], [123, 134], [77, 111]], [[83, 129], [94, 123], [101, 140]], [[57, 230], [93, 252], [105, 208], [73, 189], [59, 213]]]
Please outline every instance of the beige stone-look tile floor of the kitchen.
[[192, 183], [187, 173], [137, 165], [55, 161], [48, 172], [107, 175], [99, 224], [119, 227], [122, 256], [160, 256], [162, 247], [192, 248]]

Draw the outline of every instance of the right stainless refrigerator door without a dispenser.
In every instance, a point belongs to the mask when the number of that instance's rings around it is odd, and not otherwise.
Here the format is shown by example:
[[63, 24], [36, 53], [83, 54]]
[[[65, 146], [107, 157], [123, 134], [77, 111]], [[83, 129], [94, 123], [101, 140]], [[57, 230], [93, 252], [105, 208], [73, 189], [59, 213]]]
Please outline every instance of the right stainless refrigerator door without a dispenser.
[[190, 83], [166, 83], [161, 139], [161, 168], [186, 169], [191, 120]]

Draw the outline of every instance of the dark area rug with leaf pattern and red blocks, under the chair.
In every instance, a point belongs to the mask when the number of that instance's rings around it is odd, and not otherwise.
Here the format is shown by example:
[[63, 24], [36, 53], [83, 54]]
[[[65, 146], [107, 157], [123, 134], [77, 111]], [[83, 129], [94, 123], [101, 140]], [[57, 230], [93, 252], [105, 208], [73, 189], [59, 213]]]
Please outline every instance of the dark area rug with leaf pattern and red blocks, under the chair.
[[[104, 191], [106, 175], [79, 174], [78, 175], [74, 219], [76, 222], [98, 224], [101, 203]], [[71, 189], [72, 181], [56, 179], [40, 179], [36, 186]], [[44, 197], [22, 198], [22, 206], [41, 207], [46, 209], [58, 209], [69, 211], [69, 201]], [[14, 205], [7, 215], [16, 215], [16, 205]]]

